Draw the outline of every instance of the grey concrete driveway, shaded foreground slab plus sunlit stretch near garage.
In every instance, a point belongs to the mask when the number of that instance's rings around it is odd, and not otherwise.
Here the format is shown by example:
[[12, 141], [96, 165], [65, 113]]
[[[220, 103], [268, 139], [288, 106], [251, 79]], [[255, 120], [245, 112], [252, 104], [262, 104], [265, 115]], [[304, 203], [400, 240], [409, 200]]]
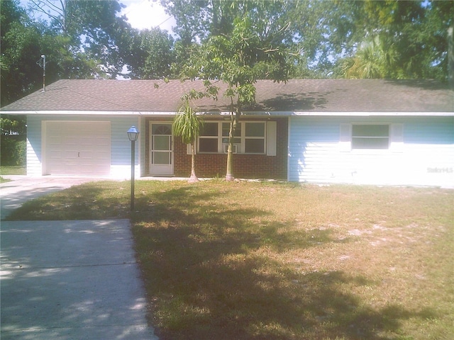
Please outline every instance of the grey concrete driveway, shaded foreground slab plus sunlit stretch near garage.
[[[28, 199], [93, 180], [3, 183], [1, 216]], [[1, 221], [0, 281], [2, 340], [157, 339], [145, 318], [129, 220]]]

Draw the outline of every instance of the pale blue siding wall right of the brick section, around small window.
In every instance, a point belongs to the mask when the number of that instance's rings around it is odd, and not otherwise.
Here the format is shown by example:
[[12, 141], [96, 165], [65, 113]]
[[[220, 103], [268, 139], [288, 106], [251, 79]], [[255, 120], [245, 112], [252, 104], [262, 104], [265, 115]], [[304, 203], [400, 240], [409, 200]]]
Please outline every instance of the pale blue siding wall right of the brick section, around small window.
[[[402, 124], [403, 144], [344, 150], [345, 123]], [[454, 186], [454, 118], [292, 117], [288, 169], [289, 181]]]

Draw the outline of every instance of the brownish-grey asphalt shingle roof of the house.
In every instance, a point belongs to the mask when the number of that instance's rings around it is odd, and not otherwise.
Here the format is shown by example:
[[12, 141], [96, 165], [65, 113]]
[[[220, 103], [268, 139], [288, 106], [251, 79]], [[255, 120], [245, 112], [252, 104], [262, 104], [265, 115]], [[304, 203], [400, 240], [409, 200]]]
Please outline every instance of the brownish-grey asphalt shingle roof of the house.
[[[159, 87], [156, 88], [155, 84]], [[302, 79], [287, 83], [257, 82], [254, 107], [260, 112], [454, 112], [454, 91], [437, 81], [384, 79]], [[204, 89], [202, 81], [168, 84], [153, 80], [59, 80], [18, 101], [4, 112], [106, 111], [175, 112], [189, 89]], [[200, 111], [228, 111], [228, 98], [196, 102]]]

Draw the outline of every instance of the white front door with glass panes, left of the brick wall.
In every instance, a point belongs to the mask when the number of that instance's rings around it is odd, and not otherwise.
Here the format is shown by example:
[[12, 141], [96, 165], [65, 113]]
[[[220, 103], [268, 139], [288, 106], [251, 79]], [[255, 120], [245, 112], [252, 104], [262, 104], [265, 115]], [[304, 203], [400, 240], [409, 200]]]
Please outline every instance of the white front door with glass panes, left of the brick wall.
[[150, 174], [173, 175], [172, 123], [150, 122]]

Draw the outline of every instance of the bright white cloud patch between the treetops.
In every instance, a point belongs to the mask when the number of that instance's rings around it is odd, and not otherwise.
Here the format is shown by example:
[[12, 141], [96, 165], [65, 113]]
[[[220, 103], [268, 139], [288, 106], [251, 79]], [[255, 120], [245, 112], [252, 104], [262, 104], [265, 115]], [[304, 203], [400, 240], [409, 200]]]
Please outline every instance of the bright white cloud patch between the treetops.
[[126, 15], [128, 23], [133, 28], [143, 30], [159, 26], [162, 30], [172, 33], [172, 26], [176, 26], [175, 18], [165, 13], [164, 8], [150, 0], [123, 0], [126, 5], [121, 11], [121, 16]]

